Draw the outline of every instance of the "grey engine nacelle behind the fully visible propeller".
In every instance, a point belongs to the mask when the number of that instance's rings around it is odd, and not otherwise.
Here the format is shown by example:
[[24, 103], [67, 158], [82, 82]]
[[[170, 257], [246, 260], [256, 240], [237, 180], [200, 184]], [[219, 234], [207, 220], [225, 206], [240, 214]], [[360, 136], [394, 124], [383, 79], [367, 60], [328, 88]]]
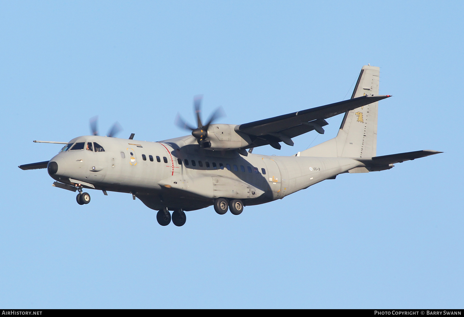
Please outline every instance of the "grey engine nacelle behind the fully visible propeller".
[[[211, 124], [204, 148], [208, 150], [231, 150], [249, 146], [252, 142], [250, 136], [237, 133], [234, 124]], [[209, 142], [209, 143], [208, 143]]]

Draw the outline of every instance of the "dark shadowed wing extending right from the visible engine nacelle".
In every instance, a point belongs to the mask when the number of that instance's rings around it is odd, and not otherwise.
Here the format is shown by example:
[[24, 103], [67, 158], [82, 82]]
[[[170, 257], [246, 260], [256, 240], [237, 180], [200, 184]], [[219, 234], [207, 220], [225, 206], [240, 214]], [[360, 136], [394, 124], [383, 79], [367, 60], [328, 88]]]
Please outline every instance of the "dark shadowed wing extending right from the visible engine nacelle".
[[291, 138], [297, 135], [316, 130], [324, 133], [323, 126], [328, 123], [327, 118], [337, 114], [366, 106], [370, 103], [385, 99], [390, 95], [364, 95], [361, 97], [331, 103], [329, 105], [297, 111], [291, 114], [244, 123], [236, 128], [236, 132], [248, 134], [253, 143], [247, 147], [256, 147], [270, 144], [280, 148], [278, 142], [293, 145]]

